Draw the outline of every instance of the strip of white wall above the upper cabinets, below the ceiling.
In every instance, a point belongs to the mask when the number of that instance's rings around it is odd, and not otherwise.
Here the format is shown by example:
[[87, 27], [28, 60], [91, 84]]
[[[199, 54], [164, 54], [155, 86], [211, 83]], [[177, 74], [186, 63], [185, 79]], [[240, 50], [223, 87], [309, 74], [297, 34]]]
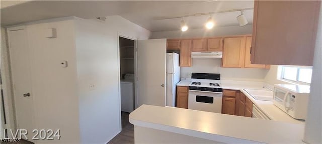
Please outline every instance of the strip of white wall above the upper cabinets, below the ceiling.
[[240, 26], [214, 27], [212, 30], [188, 29], [186, 32], [182, 32], [180, 30], [153, 32], [151, 38], [152, 39], [199, 38], [199, 37], [244, 35], [244, 34], [252, 34], [252, 25], [245, 25], [243, 27], [240, 27]]

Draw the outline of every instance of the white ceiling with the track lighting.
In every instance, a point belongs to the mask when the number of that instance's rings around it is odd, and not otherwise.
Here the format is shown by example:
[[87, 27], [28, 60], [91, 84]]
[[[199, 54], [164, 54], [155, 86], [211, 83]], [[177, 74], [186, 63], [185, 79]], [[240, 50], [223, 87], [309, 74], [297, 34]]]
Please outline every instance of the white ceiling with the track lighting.
[[[76, 16], [91, 19], [119, 15], [152, 32], [180, 30], [182, 18], [158, 20], [158, 17], [180, 17], [231, 9], [252, 8], [254, 1], [0, 1], [1, 25]], [[238, 25], [240, 12], [214, 14], [216, 26]], [[251, 24], [253, 10], [244, 11]], [[203, 28], [209, 15], [185, 17], [190, 29]]]

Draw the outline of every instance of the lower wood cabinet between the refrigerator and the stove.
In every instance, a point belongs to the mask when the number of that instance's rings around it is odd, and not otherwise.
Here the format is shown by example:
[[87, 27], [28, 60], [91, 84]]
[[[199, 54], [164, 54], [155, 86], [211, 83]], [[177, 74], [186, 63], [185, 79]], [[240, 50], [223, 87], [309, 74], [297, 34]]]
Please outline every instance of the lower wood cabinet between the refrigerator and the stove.
[[188, 108], [188, 87], [177, 86], [176, 107]]

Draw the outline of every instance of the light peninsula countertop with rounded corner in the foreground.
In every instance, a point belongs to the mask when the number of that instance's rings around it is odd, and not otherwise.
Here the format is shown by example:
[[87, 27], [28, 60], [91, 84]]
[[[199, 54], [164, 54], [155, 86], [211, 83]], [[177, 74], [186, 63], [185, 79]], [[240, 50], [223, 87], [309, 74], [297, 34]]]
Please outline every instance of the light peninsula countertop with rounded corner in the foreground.
[[135, 126], [224, 143], [302, 143], [303, 124], [142, 105], [129, 115]]

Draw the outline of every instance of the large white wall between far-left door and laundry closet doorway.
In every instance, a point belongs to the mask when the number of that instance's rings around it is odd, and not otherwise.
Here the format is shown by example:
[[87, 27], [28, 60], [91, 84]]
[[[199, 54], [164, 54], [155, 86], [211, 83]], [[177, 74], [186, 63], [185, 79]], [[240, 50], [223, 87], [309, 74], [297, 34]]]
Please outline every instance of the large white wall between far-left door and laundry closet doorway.
[[[108, 142], [121, 131], [118, 36], [148, 39], [150, 32], [119, 16], [105, 22], [66, 17], [25, 25], [35, 129], [60, 129], [61, 135], [36, 142]], [[57, 38], [46, 38], [48, 28], [56, 28]]]

